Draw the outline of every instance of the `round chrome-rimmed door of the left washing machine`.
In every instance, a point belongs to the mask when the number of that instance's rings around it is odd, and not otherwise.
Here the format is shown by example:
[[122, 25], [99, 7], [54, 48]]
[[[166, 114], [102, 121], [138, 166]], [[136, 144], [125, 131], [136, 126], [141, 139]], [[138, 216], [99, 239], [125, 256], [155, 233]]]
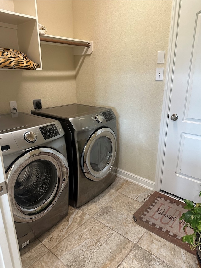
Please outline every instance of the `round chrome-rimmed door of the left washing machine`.
[[56, 203], [68, 183], [68, 163], [51, 148], [21, 156], [6, 172], [14, 220], [32, 222]]

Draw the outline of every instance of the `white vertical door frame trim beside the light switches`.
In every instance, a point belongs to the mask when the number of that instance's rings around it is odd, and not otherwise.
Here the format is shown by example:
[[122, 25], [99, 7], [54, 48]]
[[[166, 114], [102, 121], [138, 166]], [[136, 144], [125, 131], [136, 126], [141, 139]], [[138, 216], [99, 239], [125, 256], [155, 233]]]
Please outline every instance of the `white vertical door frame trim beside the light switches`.
[[162, 172], [163, 172], [163, 163], [165, 156], [166, 136], [168, 127], [168, 114], [170, 109], [181, 1], [182, 0], [173, 0], [172, 2], [170, 37], [168, 44], [167, 66], [166, 66], [166, 81], [164, 86], [163, 105], [160, 120], [160, 132], [159, 132], [158, 154], [156, 162], [156, 177], [155, 177], [155, 188], [154, 188], [155, 191], [158, 192], [160, 192], [162, 182]]

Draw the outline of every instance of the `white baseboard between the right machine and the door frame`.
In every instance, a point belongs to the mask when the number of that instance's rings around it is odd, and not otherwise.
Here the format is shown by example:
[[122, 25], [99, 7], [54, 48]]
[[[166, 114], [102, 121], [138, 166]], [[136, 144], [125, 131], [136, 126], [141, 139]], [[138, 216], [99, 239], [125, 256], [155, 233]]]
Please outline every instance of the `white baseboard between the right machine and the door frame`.
[[148, 179], [139, 177], [137, 175], [129, 173], [129, 172], [122, 170], [120, 168], [116, 168], [116, 175], [123, 178], [123, 179], [126, 179], [128, 181], [139, 184], [140, 186], [146, 187], [150, 190], [154, 190], [155, 183], [153, 181], [148, 180]]

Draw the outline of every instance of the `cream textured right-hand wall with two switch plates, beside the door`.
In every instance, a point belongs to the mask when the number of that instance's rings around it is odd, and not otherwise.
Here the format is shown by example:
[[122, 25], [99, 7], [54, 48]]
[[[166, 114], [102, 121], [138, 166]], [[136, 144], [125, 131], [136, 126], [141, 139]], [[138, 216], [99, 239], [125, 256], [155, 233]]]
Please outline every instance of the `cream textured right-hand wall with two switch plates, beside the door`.
[[73, 1], [74, 38], [94, 41], [91, 56], [76, 56], [77, 102], [112, 107], [118, 167], [152, 181], [164, 91], [155, 74], [166, 67], [157, 55], [167, 56], [171, 7], [168, 0]]

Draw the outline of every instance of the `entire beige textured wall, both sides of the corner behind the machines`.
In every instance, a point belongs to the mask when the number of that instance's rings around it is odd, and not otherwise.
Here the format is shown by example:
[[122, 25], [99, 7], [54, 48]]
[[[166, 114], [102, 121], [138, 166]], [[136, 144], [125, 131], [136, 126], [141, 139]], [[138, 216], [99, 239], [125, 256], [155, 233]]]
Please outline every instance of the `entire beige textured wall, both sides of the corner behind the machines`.
[[[172, 1], [37, 0], [37, 5], [47, 34], [94, 41], [94, 52], [73, 57], [70, 47], [41, 45], [42, 71], [0, 72], [0, 112], [10, 112], [14, 100], [19, 111], [30, 112], [35, 98], [43, 107], [76, 100], [111, 107], [118, 167], [154, 181], [164, 90], [155, 73], [166, 67]], [[157, 64], [160, 50], [166, 50], [164, 64]]]

